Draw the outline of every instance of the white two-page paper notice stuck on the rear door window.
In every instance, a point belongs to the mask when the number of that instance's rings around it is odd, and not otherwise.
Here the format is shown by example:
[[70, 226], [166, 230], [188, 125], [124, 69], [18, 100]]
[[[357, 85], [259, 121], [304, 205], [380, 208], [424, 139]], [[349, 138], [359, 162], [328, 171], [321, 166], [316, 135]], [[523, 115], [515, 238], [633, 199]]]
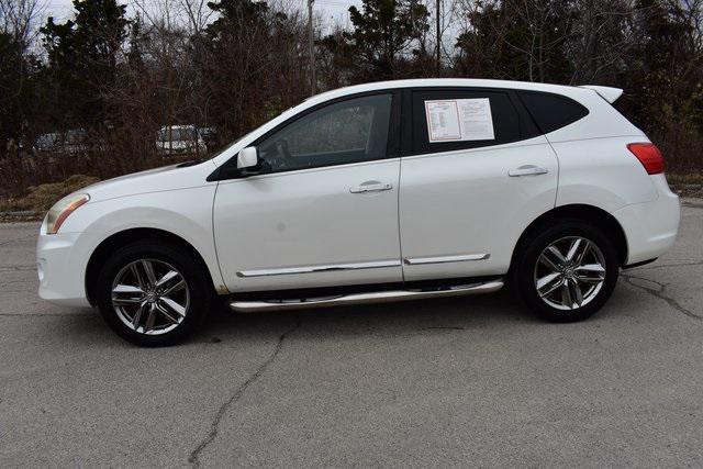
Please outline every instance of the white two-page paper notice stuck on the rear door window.
[[425, 101], [429, 143], [494, 139], [488, 98]]

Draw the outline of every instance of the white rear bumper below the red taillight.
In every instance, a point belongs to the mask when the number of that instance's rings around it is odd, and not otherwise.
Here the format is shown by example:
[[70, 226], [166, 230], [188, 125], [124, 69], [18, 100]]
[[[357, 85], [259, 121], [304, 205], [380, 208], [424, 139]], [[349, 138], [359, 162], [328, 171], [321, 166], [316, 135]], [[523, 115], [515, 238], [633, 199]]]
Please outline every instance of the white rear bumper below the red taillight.
[[668, 252], [679, 232], [679, 197], [663, 175], [651, 177], [658, 197], [650, 202], [625, 205], [613, 212], [627, 238], [625, 265], [643, 263]]

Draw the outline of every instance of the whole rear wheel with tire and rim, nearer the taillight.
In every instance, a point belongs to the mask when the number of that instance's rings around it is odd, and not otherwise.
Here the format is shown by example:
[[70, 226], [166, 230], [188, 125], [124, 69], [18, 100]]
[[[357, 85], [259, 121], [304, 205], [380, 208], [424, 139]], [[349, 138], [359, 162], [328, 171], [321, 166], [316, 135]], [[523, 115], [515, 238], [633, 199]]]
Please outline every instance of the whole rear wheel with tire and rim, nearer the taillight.
[[517, 253], [512, 282], [527, 306], [553, 322], [589, 317], [607, 301], [618, 256], [590, 223], [565, 220], [533, 234]]

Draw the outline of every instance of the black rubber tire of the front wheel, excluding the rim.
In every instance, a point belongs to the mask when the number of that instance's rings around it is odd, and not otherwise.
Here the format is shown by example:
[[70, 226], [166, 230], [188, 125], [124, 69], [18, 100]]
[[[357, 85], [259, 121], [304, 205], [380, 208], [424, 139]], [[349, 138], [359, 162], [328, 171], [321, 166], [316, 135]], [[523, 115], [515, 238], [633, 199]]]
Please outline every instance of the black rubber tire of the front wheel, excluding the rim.
[[[152, 330], [152, 334], [140, 332], [140, 327], [134, 330], [125, 323], [125, 321], [130, 319], [130, 311], [135, 311], [138, 306], [125, 306], [125, 309], [120, 309], [120, 313], [118, 313], [116, 309], [113, 308], [113, 282], [116, 280], [119, 275], [123, 275], [123, 272], [131, 270], [129, 266], [132, 265], [132, 263], [140, 261], [137, 263], [137, 266], [141, 265], [140, 259], [148, 259], [149, 264], [154, 264], [156, 267], [160, 268], [164, 268], [164, 266], [172, 267], [172, 270], [180, 273], [182, 280], [185, 280], [185, 287], [181, 287], [179, 289], [180, 291], [175, 293], [181, 295], [181, 299], [186, 299], [183, 301], [186, 304], [186, 308], [183, 308], [185, 313], [182, 315], [178, 315], [176, 314], [176, 310], [167, 309], [168, 315], [180, 319], [180, 323], [171, 322], [170, 324], [167, 324], [169, 321], [167, 319], [168, 316], [160, 313], [164, 308], [161, 308], [161, 310], [157, 309], [156, 319], [150, 324], [155, 327]], [[160, 271], [163, 272], [164, 270]], [[146, 277], [146, 271], [142, 270], [140, 273], [124, 275], [131, 275], [132, 279], [135, 279], [137, 275]], [[148, 281], [145, 283], [147, 282]], [[134, 283], [138, 282], [134, 281]], [[152, 289], [152, 287], [148, 288]], [[165, 290], [167, 288], [165, 288]], [[145, 298], [142, 293], [135, 294], [141, 298]], [[178, 245], [152, 239], [135, 242], [115, 250], [100, 270], [96, 295], [98, 309], [108, 325], [120, 337], [144, 347], [169, 346], [185, 340], [196, 331], [198, 325], [204, 319], [205, 314], [210, 310], [210, 305], [212, 304], [212, 297], [213, 291], [211, 282], [208, 279], [208, 272], [204, 271], [204, 267], [201, 267], [199, 259], [194, 258], [192, 254]], [[150, 303], [145, 303], [147, 304], [147, 310], [143, 310], [140, 317], [145, 314], [145, 311], [148, 315], [148, 311], [150, 311], [149, 308], [153, 304], [160, 304], [161, 306], [165, 306], [163, 303], [159, 303], [158, 299], [152, 299], [150, 301]], [[140, 302], [140, 304], [143, 304], [143, 302]], [[125, 313], [124, 311], [127, 312]], [[136, 312], [133, 314], [132, 319], [135, 316]], [[124, 317], [126, 317], [126, 320]], [[137, 324], [143, 324], [143, 327], [141, 327], [143, 330], [147, 328], [147, 324], [140, 320], [137, 320]], [[161, 324], [164, 326], [159, 331], [158, 326]], [[172, 328], [168, 330], [169, 327]], [[157, 333], [157, 335], [153, 335], [154, 333]]]

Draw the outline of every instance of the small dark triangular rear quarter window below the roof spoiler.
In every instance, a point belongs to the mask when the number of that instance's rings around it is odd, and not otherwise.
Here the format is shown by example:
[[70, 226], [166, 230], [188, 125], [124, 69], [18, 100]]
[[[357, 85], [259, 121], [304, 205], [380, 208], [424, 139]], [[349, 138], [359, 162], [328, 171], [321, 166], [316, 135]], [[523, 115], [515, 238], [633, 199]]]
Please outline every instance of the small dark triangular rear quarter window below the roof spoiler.
[[589, 113], [583, 105], [563, 96], [534, 91], [517, 94], [543, 134], [567, 126]]

